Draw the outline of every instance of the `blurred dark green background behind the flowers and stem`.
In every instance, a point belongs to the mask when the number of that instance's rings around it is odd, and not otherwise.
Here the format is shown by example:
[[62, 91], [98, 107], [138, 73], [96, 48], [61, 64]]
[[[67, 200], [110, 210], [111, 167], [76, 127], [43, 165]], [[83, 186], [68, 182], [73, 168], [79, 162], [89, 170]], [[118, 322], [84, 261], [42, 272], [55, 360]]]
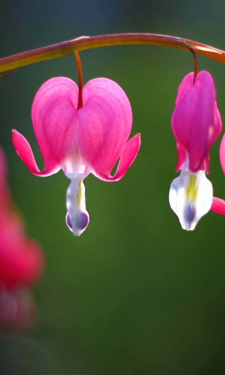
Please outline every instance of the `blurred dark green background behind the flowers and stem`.
[[[152, 32], [225, 49], [221, 0], [2, 0], [0, 56], [81, 35]], [[27, 233], [46, 252], [34, 290], [40, 318], [30, 336], [1, 338], [0, 373], [79, 375], [225, 374], [225, 217], [209, 212], [195, 231], [181, 229], [168, 203], [177, 175], [170, 127], [178, 85], [193, 70], [189, 52], [117, 46], [81, 52], [84, 83], [108, 77], [126, 92], [131, 135], [142, 145], [121, 181], [86, 178], [90, 223], [81, 237], [65, 225], [62, 171], [35, 177], [11, 142], [12, 128], [42, 157], [30, 110], [51, 77], [77, 81], [74, 55], [18, 69], [0, 81], [0, 143], [13, 197]], [[225, 66], [198, 56], [214, 77], [225, 118]], [[225, 198], [219, 163], [222, 135], [211, 148], [214, 195]]]

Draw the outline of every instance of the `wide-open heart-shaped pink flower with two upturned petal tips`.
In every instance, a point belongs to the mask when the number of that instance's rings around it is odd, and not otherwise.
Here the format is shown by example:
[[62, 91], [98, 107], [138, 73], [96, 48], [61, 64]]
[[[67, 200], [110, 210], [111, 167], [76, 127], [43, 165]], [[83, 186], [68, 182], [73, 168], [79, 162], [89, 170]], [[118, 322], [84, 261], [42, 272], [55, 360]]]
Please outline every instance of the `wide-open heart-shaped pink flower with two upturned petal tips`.
[[[62, 168], [71, 179], [66, 223], [75, 236], [80, 236], [89, 223], [83, 179], [92, 172], [105, 181], [120, 180], [140, 147], [139, 134], [127, 142], [132, 111], [120, 86], [107, 78], [89, 81], [83, 88], [80, 109], [78, 93], [74, 81], [56, 77], [45, 82], [34, 98], [31, 117], [45, 163], [43, 171], [39, 171], [24, 136], [13, 130], [12, 138], [33, 174], [47, 176]], [[117, 171], [111, 176], [119, 157]]]

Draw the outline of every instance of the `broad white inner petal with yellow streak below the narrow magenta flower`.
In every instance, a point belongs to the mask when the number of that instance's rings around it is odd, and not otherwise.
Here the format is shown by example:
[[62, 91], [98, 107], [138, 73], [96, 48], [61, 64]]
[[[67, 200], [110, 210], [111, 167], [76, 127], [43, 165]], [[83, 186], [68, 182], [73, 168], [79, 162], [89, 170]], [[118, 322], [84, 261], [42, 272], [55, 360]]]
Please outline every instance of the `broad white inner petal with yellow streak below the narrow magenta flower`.
[[198, 220], [211, 208], [213, 187], [205, 171], [190, 172], [187, 166], [181, 169], [169, 190], [169, 204], [177, 214], [183, 229], [193, 230]]

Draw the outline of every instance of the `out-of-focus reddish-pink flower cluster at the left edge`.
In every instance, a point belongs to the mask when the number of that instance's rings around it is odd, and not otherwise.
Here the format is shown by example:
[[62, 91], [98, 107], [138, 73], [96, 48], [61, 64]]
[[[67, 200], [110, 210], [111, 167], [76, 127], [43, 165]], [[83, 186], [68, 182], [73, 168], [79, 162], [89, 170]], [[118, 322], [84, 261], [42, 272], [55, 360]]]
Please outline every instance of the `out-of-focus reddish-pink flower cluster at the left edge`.
[[44, 256], [38, 243], [24, 233], [20, 217], [10, 209], [6, 159], [0, 148], [0, 328], [21, 329], [36, 311], [30, 286], [42, 272]]

